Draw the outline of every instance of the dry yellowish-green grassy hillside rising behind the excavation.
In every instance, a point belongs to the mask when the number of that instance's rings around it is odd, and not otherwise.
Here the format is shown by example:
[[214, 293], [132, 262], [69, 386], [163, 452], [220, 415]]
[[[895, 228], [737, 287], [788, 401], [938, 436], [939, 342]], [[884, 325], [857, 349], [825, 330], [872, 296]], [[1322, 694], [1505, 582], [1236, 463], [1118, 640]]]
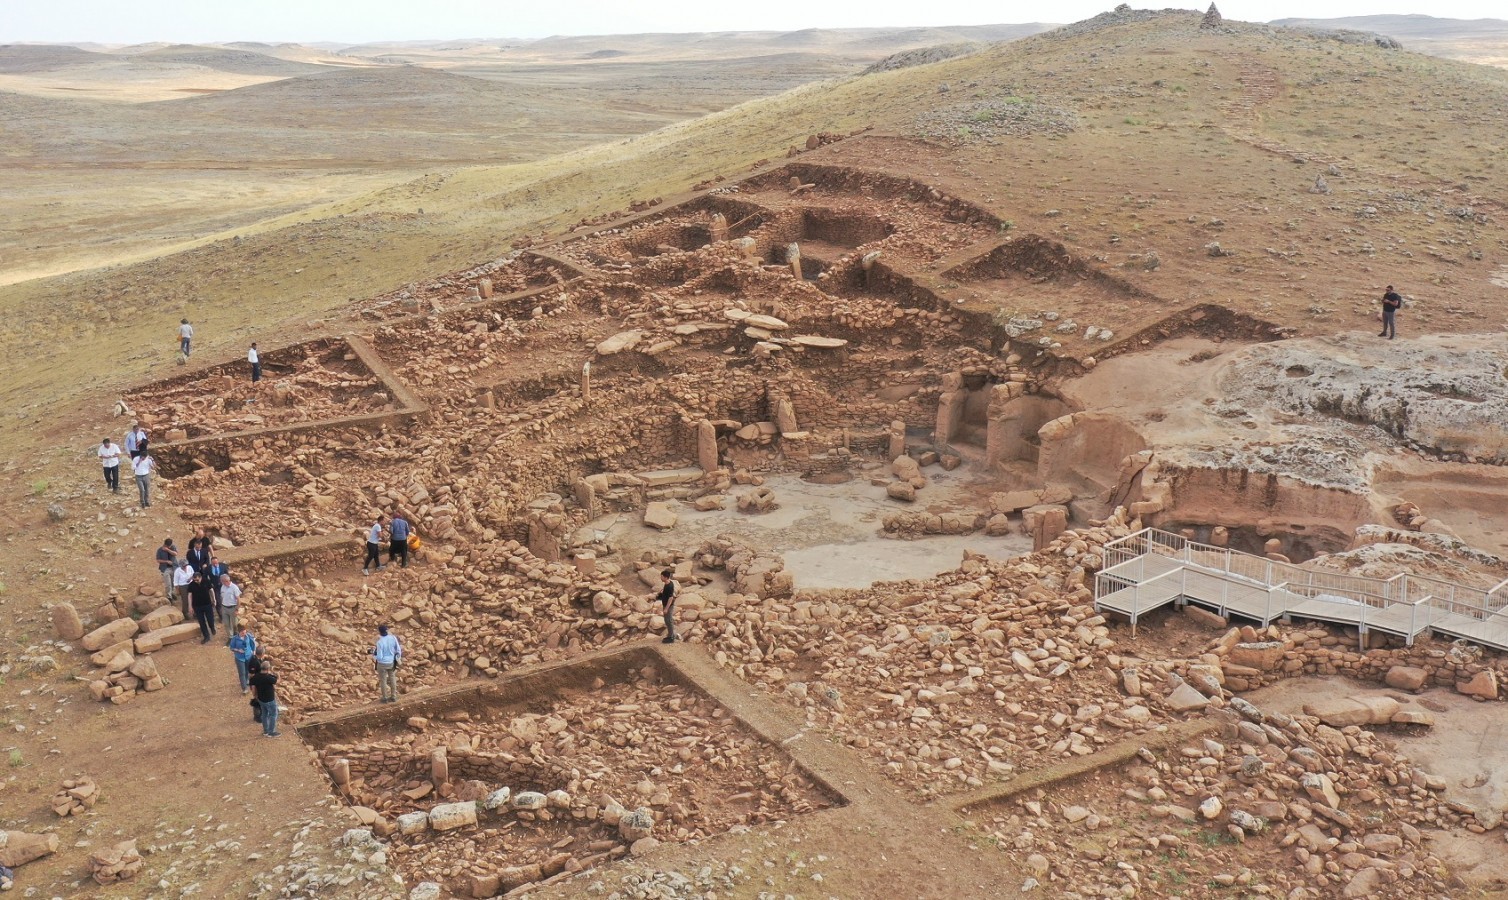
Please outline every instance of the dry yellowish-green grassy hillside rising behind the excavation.
[[[1161, 268], [1139, 277], [1170, 300], [1313, 318], [1303, 311], [1392, 271], [1424, 279], [1422, 265], [1448, 265], [1434, 288], [1455, 295], [1508, 264], [1496, 223], [1449, 213], [1500, 210], [1508, 196], [1508, 122], [1493, 112], [1508, 109], [1508, 72], [1197, 21], [1107, 15], [538, 163], [437, 172], [241, 229], [238, 241], [0, 288], [0, 399], [29, 416], [84, 393], [103, 409], [110, 384], [167, 366], [181, 315], [199, 324], [205, 353], [253, 335], [291, 339], [351, 297], [496, 256], [520, 232], [734, 175], [813, 131], [912, 134], [924, 115], [955, 122], [944, 148], [882, 143], [863, 163], [917, 170], [1105, 265], [1157, 252]], [[1039, 107], [1071, 112], [1075, 130], [1010, 134], [1015, 110]], [[1310, 194], [1329, 166], [1335, 193]], [[1211, 258], [1211, 240], [1240, 255]]]

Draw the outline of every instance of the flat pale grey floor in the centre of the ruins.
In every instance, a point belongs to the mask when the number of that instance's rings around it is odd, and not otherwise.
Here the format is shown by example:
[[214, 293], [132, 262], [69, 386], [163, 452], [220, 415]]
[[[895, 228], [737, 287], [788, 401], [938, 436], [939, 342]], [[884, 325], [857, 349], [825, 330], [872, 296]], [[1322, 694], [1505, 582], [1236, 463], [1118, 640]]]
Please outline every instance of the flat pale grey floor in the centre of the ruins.
[[[932, 466], [926, 475], [932, 484], [918, 494], [920, 507], [967, 510], [980, 508], [982, 499], [988, 499], [989, 479], [968, 467], [944, 472]], [[781, 553], [798, 589], [867, 588], [873, 582], [930, 577], [956, 568], [965, 550], [1000, 559], [1031, 552], [1031, 538], [1025, 535], [929, 535], [911, 541], [884, 537], [882, 519], [914, 507], [888, 499], [885, 488], [867, 478], [813, 484], [796, 475], [775, 475], [765, 487], [775, 491], [780, 508], [763, 514], [740, 513], [730, 499], [725, 510], [710, 513], [682, 505], [680, 522], [670, 534], [644, 526], [638, 516], [608, 516], [593, 526], [620, 547], [623, 558], [668, 544], [695, 549], [730, 535], [757, 550]], [[736, 487], [733, 496], [751, 490]]]

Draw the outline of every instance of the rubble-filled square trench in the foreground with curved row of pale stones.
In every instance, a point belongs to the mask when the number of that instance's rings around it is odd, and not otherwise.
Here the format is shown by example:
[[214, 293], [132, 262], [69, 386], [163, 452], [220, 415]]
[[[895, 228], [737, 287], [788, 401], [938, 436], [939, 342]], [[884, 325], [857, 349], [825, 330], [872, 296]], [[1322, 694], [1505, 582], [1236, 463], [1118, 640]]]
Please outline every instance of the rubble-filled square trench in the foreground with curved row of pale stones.
[[828, 805], [725, 710], [651, 669], [547, 713], [413, 718], [320, 758], [400, 871], [470, 897]]

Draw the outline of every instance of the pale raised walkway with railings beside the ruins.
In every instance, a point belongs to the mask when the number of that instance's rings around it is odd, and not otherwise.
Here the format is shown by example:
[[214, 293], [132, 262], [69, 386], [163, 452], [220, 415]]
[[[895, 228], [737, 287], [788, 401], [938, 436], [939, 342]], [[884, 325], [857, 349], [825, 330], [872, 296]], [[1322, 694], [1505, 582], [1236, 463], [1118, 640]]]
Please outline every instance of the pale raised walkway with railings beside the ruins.
[[1396, 574], [1372, 579], [1303, 568], [1148, 528], [1105, 544], [1095, 608], [1137, 620], [1161, 606], [1194, 603], [1267, 626], [1306, 618], [1353, 626], [1405, 642], [1424, 632], [1508, 650], [1508, 580], [1491, 589]]

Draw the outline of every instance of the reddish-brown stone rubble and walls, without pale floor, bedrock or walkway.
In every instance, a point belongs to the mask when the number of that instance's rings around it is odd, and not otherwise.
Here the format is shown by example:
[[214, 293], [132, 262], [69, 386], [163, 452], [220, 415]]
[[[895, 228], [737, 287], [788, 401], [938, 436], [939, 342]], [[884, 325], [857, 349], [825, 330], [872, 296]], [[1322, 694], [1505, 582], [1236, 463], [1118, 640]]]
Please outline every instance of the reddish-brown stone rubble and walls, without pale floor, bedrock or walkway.
[[[436, 303], [360, 314], [369, 333], [287, 348], [308, 365], [302, 399], [327, 418], [256, 424], [220, 407], [205, 419], [220, 431], [190, 434], [184, 416], [213, 404], [195, 407], [178, 383], [134, 393], [140, 416], [184, 433], [160, 448], [166, 493], [235, 544], [255, 591], [243, 620], [280, 648], [293, 724], [359, 823], [353, 846], [428, 895], [490, 897], [648, 852], [644, 841], [852, 801], [799, 742], [731, 712], [760, 703], [819, 728], [864, 778], [968, 811], [1039, 883], [1123, 894], [1146, 883], [1146, 853], [1187, 846], [1170, 829], [1197, 828], [1291, 855], [1264, 876], [1288, 894], [1442, 889], [1419, 829], [1490, 816], [1454, 808], [1439, 779], [1366, 730], [1425, 728], [1424, 716], [1383, 722], [1366, 701], [1365, 724], [1332, 725], [1347, 710], [1285, 716], [1238, 693], [1344, 672], [1485, 703], [1508, 666], [1430, 642], [1353, 651], [1329, 627], [1223, 621], [1197, 651], [1123, 645], [1092, 606], [1104, 546], [1176, 516], [1209, 528], [1220, 517], [1203, 507], [1229, 505], [1231, 481], [1217, 461], [1154, 452], [1062, 381], [1152, 338], [1280, 332], [1214, 308], [1137, 326], [1148, 295], [1134, 283], [1000, 225], [926, 184], [792, 164], [538, 252], [559, 277], [499, 292], [504, 267], [463, 273], [430, 288]], [[1131, 312], [995, 321], [942, 286], [1013, 280], [1045, 295], [1071, 282]], [[935, 473], [959, 469], [997, 490], [930, 508]], [[893, 505], [878, 532], [985, 546], [1015, 532], [1034, 553], [965, 553], [932, 579], [805, 591], [778, 553], [728, 535], [630, 559], [594, 525], [626, 516], [674, 541], [683, 514], [728, 499], [774, 513], [763, 479], [780, 473], [867, 476]], [[1238, 490], [1267, 491], [1250, 501], [1267, 508], [1297, 488], [1274, 476]], [[407, 514], [425, 549], [360, 580], [375, 511]], [[1252, 537], [1217, 526], [1232, 543]], [[1273, 558], [1300, 550], [1264, 544]], [[689, 644], [662, 653], [641, 641], [661, 627], [650, 591], [664, 567], [686, 586]], [[187, 629], [149, 586], [122, 606], [87, 633], [77, 611], [54, 608], [59, 635], [97, 654], [92, 686], [113, 703], [152, 690], [142, 660]], [[406, 696], [344, 710], [369, 692], [360, 650], [375, 623], [403, 635]], [[756, 699], [679, 666], [682, 651]], [[680, 763], [657, 781], [642, 776], [656, 746]], [[1128, 785], [1119, 799], [1025, 787], [1128, 748], [1102, 763]], [[522, 843], [504, 852], [502, 831]], [[1084, 831], [1108, 849], [1086, 850]]]

